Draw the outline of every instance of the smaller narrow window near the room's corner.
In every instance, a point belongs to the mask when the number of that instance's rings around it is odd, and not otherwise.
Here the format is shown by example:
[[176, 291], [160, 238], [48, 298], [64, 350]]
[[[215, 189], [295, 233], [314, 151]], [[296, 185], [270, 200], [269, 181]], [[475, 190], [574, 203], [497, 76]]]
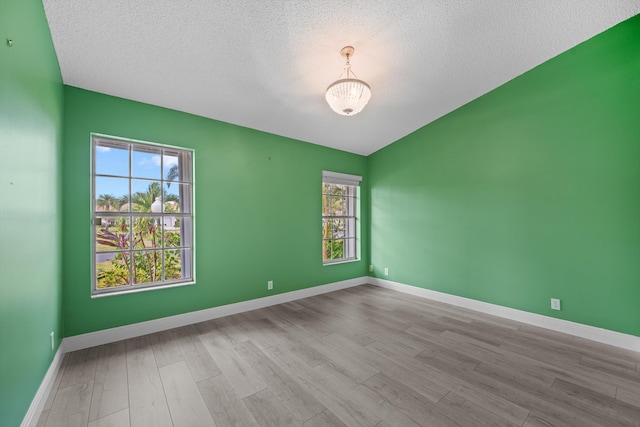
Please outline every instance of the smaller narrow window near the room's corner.
[[358, 259], [358, 185], [362, 177], [322, 171], [322, 262]]

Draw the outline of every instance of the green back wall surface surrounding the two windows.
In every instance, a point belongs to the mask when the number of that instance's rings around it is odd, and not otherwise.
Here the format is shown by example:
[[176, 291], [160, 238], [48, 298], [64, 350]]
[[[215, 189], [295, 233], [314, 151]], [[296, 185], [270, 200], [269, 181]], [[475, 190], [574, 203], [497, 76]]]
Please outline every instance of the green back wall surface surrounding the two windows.
[[[322, 170], [367, 159], [215, 120], [65, 86], [63, 277], [66, 336], [367, 275], [323, 267]], [[196, 285], [91, 299], [90, 133], [195, 149]], [[274, 290], [267, 291], [267, 281]]]

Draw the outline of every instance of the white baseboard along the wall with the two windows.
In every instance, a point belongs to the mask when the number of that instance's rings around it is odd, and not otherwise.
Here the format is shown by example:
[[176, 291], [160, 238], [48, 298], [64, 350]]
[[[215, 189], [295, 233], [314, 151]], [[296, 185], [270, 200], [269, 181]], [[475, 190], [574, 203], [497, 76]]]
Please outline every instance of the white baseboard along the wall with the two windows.
[[64, 352], [81, 350], [95, 347], [97, 345], [108, 344], [128, 338], [165, 331], [180, 326], [187, 326], [193, 323], [204, 322], [218, 317], [243, 313], [245, 311], [256, 310], [271, 305], [282, 304], [284, 302], [295, 301], [297, 299], [308, 298], [314, 295], [326, 294], [340, 289], [353, 286], [364, 285], [368, 282], [367, 276], [355, 279], [343, 280], [326, 285], [313, 286], [311, 288], [300, 289], [264, 298], [257, 298], [249, 301], [242, 301], [235, 304], [223, 305], [220, 307], [208, 308], [206, 310], [192, 311], [190, 313], [178, 314], [176, 316], [163, 317], [161, 319], [149, 320], [147, 322], [134, 323], [117, 328], [104, 329], [102, 331], [90, 332], [82, 335], [67, 337], [62, 340]]

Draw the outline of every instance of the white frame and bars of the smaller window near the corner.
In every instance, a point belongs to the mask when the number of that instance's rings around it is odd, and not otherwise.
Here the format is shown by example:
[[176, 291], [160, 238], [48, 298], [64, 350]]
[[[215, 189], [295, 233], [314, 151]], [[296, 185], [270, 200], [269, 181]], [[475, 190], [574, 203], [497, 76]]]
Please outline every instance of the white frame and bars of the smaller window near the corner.
[[[345, 262], [358, 261], [360, 259], [360, 182], [362, 177], [359, 175], [351, 175], [340, 172], [322, 171], [322, 263], [323, 265], [340, 264]], [[343, 194], [345, 199], [344, 206], [346, 212], [325, 212], [325, 197], [333, 197], [332, 194], [325, 193], [325, 184], [333, 184], [343, 186], [346, 193]], [[331, 220], [343, 221], [344, 229], [342, 236], [336, 238], [335, 235], [325, 236], [325, 222]], [[342, 247], [343, 256], [340, 258], [325, 259], [325, 251], [327, 242], [335, 240], [344, 240]], [[331, 248], [332, 250], [332, 248]]]

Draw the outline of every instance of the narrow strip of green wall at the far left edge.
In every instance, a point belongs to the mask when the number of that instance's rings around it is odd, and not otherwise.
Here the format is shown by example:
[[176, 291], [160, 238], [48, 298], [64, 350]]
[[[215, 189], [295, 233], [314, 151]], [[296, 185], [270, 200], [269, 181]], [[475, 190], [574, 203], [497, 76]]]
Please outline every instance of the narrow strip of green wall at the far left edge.
[[[9, 47], [7, 39], [13, 40]], [[62, 79], [42, 3], [0, 2], [0, 425], [17, 426], [62, 336]], [[59, 344], [56, 340], [56, 347]]]

